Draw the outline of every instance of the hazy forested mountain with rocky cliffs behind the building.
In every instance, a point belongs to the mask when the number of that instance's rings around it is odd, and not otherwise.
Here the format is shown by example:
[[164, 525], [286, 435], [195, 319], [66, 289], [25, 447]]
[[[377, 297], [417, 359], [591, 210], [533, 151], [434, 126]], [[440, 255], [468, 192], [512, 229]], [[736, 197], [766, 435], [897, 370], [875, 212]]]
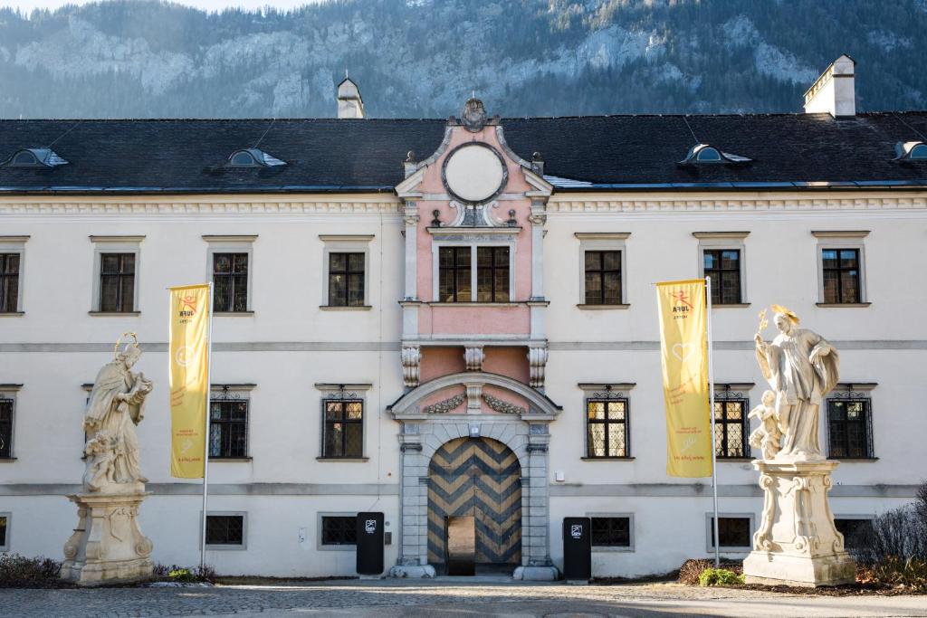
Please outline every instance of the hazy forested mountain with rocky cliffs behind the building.
[[[2, 0], [0, 0], [2, 2]], [[927, 0], [142, 1], [0, 9], [0, 117], [370, 117], [798, 111], [857, 60], [860, 110], [927, 107]]]

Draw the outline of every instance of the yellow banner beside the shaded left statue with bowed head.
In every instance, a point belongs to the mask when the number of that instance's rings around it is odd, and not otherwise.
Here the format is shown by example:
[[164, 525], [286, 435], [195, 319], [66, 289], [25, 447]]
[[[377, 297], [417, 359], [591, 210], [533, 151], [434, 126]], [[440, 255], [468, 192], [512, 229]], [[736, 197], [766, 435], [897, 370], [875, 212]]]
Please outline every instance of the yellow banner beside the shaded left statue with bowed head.
[[171, 287], [171, 476], [202, 478], [209, 403], [210, 286]]

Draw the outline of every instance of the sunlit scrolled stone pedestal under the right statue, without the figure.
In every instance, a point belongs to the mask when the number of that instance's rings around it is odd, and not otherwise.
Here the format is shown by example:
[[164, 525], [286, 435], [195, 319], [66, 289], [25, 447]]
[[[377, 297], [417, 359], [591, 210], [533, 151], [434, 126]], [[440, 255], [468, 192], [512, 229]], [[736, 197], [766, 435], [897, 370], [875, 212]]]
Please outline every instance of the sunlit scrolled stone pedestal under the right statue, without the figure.
[[837, 586], [857, 566], [833, 524], [827, 494], [837, 461], [754, 460], [764, 491], [763, 521], [743, 561], [748, 584]]

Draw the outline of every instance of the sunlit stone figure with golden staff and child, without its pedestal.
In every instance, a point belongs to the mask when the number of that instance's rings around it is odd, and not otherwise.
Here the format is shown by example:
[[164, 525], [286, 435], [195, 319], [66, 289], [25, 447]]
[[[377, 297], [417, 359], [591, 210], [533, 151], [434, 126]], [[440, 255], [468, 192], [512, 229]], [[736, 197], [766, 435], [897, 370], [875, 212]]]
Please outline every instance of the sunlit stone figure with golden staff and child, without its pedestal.
[[[776, 420], [781, 431], [777, 460], [824, 460], [818, 439], [823, 397], [837, 385], [840, 358], [819, 334], [798, 328], [798, 317], [774, 305], [779, 334], [771, 343], [757, 333], [756, 360], [776, 394]], [[764, 321], [765, 322], [765, 321]]]

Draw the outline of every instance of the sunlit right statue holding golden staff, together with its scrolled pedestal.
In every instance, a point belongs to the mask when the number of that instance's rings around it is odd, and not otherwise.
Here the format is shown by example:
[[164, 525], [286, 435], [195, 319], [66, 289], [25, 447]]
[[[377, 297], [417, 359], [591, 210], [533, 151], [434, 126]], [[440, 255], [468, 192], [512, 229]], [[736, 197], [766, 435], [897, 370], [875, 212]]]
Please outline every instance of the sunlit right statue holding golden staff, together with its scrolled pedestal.
[[840, 379], [837, 350], [798, 326], [793, 311], [773, 305], [779, 334], [763, 340], [766, 310], [754, 336], [756, 361], [769, 389], [750, 411], [759, 427], [750, 444], [762, 459], [753, 465], [763, 490], [762, 522], [743, 561], [748, 584], [836, 586], [855, 581], [856, 564], [844, 549], [828, 501], [837, 461], [820, 449], [824, 397]]

